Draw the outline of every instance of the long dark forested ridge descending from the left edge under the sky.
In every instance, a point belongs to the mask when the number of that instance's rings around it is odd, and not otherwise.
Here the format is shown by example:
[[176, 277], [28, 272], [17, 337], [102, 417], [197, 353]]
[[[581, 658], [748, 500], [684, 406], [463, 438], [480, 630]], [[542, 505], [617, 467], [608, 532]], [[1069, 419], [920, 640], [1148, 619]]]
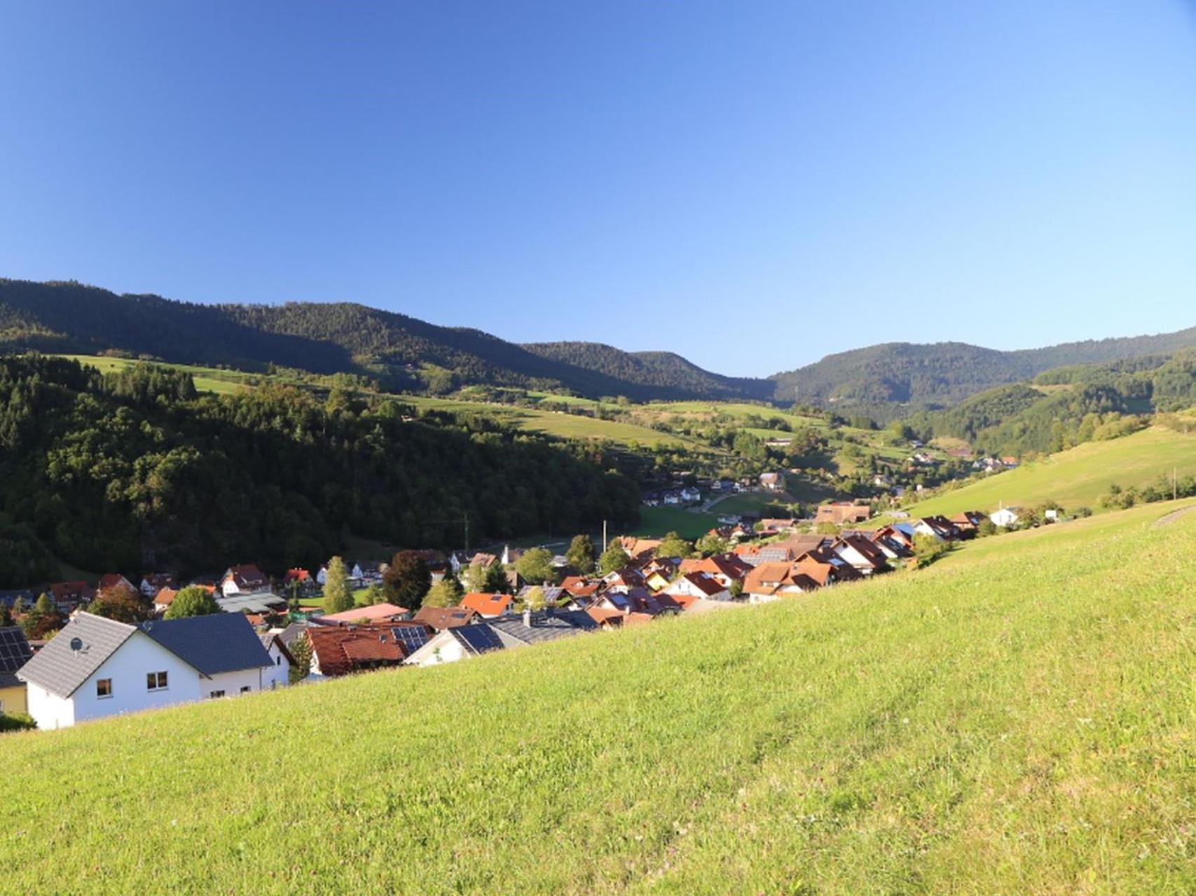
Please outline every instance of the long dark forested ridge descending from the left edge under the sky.
[[[683, 358], [663, 362], [652, 354], [624, 366], [578, 366], [568, 352], [529, 351], [477, 330], [349, 302], [196, 305], [73, 282], [0, 280], [0, 351], [20, 349], [120, 350], [249, 370], [273, 363], [367, 374], [392, 389], [429, 392], [487, 383], [563, 388], [591, 398], [743, 398], [736, 383], [758, 382], [718, 378]], [[761, 397], [764, 392], [756, 389]]]

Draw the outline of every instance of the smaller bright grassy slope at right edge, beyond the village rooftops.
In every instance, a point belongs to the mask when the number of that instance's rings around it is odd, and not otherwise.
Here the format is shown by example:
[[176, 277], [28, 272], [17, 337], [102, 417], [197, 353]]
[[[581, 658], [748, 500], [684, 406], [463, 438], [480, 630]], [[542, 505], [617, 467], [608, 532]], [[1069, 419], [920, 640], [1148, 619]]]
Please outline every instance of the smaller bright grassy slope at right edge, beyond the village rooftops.
[[910, 513], [958, 514], [962, 510], [995, 510], [1006, 507], [1057, 501], [1064, 508], [1080, 505], [1097, 510], [1097, 501], [1113, 483], [1123, 489], [1145, 486], [1178, 468], [1179, 475], [1196, 473], [1196, 435], [1163, 426], [1109, 442], [1088, 442], [1017, 470], [990, 475], [978, 483], [948, 491], [910, 508]]

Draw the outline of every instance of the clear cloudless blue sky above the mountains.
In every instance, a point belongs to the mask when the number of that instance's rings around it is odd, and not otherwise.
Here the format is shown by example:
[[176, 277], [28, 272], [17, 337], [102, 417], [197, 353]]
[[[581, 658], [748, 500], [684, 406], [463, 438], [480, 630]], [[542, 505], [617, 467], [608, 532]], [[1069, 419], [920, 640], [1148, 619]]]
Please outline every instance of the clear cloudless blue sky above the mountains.
[[1196, 325], [1180, 0], [0, 0], [0, 275], [732, 374]]

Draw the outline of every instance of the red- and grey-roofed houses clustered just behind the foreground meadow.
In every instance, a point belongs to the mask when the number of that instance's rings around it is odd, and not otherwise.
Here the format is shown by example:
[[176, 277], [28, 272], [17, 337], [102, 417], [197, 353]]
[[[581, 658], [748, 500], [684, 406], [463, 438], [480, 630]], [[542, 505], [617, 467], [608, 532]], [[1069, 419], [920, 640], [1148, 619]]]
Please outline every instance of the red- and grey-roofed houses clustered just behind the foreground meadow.
[[[293, 680], [299, 639], [310, 649], [303, 651], [310, 656], [306, 677], [319, 680], [385, 667], [440, 665], [678, 614], [764, 603], [880, 575], [908, 563], [920, 535], [957, 541], [975, 535], [988, 518], [966, 513], [875, 530], [846, 528], [866, 516], [867, 508], [847, 502], [823, 505], [819, 518], [844, 527], [832, 535], [799, 533], [803, 521], [783, 518], [762, 520], [757, 528], [719, 527], [708, 534], [724, 539], [728, 550], [708, 557], [665, 557], [659, 539], [623, 536], [629, 559], [606, 575], [563, 569], [560, 584], [520, 585], [512, 573], [506, 591], [469, 593], [457, 606], [417, 610], [376, 603], [336, 614], [294, 612], [257, 566], [243, 564], [199, 582], [221, 612], [128, 624], [89, 613], [89, 600], [97, 590], [135, 588], [161, 615], [178, 594], [170, 576], [148, 575], [139, 587], [115, 573], [96, 587], [59, 583], [50, 593], [69, 621], [50, 640], [31, 644], [19, 627], [0, 628], [0, 712], [28, 713], [38, 728], [55, 729], [271, 691]], [[425, 553], [438, 576], [450, 567], [459, 572], [518, 559], [509, 550], [469, 557]], [[383, 571], [379, 564], [350, 566], [358, 584], [380, 579]], [[325, 573], [288, 570], [280, 590], [310, 594]]]

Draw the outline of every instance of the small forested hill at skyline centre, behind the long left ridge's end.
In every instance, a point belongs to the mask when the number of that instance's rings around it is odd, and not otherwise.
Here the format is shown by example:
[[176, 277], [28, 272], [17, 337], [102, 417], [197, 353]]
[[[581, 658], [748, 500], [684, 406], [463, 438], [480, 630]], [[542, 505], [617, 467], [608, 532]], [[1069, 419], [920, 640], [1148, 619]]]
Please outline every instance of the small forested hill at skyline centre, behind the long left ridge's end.
[[773, 398], [769, 380], [722, 376], [671, 351], [623, 351], [596, 342], [529, 343], [523, 348], [541, 357], [647, 388], [681, 389], [712, 399]]

